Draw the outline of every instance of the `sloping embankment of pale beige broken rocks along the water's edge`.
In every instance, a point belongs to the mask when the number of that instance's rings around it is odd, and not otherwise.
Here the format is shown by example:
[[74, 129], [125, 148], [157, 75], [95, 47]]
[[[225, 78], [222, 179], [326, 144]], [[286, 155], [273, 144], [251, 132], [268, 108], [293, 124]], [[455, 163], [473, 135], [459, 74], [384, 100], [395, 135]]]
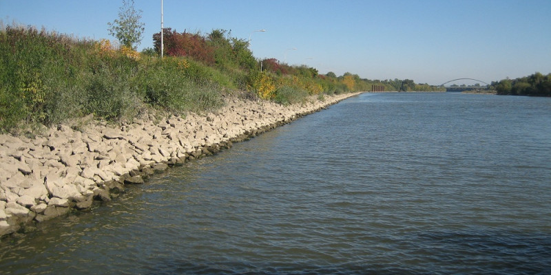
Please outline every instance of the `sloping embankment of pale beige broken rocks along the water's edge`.
[[143, 184], [169, 165], [217, 153], [353, 95], [288, 107], [229, 99], [205, 115], [135, 120], [116, 128], [89, 124], [81, 131], [58, 126], [34, 139], [0, 135], [0, 236], [110, 201], [125, 184]]

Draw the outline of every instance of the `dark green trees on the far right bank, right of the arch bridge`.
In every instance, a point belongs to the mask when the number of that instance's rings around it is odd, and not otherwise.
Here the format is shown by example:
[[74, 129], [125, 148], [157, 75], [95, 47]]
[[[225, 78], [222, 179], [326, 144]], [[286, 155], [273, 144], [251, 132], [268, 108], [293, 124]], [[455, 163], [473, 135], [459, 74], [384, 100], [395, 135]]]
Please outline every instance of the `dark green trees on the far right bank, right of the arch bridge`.
[[537, 72], [530, 76], [493, 81], [492, 87], [500, 95], [551, 96], [551, 74]]

